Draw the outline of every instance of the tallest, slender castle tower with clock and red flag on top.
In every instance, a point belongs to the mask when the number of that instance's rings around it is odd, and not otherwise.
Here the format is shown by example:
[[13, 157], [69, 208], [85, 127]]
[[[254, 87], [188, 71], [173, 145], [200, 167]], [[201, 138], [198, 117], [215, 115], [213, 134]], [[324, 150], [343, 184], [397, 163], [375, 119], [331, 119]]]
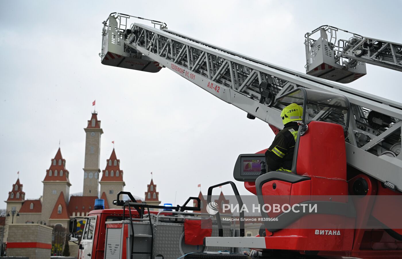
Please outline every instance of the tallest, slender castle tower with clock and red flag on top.
[[88, 125], [84, 128], [85, 139], [85, 162], [84, 162], [84, 191], [83, 196], [98, 196], [99, 158], [100, 158], [100, 135], [103, 129], [100, 128], [100, 121], [96, 111]]

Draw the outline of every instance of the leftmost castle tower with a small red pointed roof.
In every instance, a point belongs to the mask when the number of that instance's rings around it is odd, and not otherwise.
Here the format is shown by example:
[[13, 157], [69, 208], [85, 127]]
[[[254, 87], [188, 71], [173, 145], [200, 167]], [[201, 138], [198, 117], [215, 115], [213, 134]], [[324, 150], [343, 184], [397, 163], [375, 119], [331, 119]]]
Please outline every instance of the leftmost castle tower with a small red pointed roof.
[[[8, 192], [8, 198], [5, 201], [7, 203], [6, 215], [10, 215], [10, 216], [6, 216], [6, 222], [5, 222], [5, 228], [4, 228], [4, 242], [7, 241], [8, 226], [10, 224], [19, 223], [17, 221], [17, 219], [18, 219], [17, 213], [21, 209], [21, 207], [24, 203], [24, 199], [25, 199], [25, 192], [23, 192], [23, 185], [20, 183], [20, 179], [17, 179], [15, 184], [12, 185], [11, 191]], [[14, 213], [14, 220], [12, 219], [13, 213]]]

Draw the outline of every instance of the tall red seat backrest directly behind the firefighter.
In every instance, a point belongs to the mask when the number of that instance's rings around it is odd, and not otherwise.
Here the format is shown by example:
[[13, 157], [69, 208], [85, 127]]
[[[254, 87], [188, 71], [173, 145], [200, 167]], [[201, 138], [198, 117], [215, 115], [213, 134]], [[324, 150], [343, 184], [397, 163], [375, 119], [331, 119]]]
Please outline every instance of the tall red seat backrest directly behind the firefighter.
[[343, 127], [311, 121], [307, 132], [297, 136], [292, 172], [309, 177], [346, 180], [346, 149]]

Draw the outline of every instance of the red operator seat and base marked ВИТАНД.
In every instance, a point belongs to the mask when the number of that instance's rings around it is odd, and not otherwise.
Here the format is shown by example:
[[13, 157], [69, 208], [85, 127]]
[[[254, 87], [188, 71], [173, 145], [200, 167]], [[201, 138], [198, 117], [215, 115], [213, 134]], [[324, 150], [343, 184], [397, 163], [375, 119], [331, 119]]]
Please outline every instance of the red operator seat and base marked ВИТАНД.
[[[268, 172], [255, 182], [263, 218], [277, 218], [263, 221], [267, 249], [349, 251], [356, 213], [347, 198], [343, 127], [323, 121], [307, 126], [302, 135], [299, 129], [292, 173]], [[316, 204], [317, 210], [264, 212], [264, 204], [274, 203]]]

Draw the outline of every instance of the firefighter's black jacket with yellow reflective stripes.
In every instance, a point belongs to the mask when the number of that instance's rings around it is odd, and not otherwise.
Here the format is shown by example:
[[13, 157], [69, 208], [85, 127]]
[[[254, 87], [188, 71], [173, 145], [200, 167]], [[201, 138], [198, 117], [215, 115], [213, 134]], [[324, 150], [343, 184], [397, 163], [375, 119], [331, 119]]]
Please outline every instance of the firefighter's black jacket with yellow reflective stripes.
[[286, 123], [285, 127], [275, 136], [271, 146], [265, 152], [267, 172], [291, 172], [298, 129], [297, 122], [292, 121]]

